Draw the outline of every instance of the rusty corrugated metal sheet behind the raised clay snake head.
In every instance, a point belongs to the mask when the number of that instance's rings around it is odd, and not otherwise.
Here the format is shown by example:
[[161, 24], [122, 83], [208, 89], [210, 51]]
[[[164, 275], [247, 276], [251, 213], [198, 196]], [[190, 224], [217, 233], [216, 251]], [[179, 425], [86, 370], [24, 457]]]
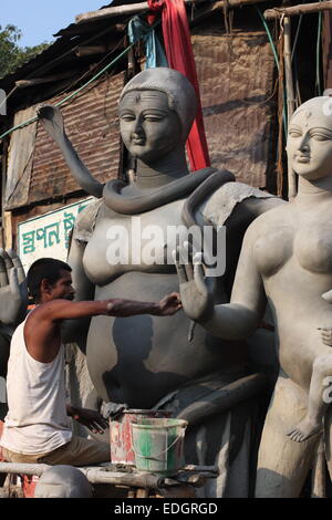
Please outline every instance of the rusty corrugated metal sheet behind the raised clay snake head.
[[[117, 177], [120, 137], [117, 100], [123, 87], [123, 73], [95, 84], [83, 95], [61, 108], [66, 133], [80, 157], [101, 183]], [[46, 103], [54, 104], [56, 96]], [[62, 155], [38, 125], [29, 204], [81, 189]]]

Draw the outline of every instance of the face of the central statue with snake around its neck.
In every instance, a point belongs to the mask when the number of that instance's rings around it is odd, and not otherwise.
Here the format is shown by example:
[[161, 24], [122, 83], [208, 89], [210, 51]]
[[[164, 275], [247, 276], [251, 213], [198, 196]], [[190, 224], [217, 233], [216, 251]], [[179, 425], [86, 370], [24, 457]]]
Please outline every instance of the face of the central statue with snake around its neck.
[[179, 146], [181, 125], [158, 91], [132, 91], [118, 107], [120, 131], [132, 154], [144, 163], [155, 163]]

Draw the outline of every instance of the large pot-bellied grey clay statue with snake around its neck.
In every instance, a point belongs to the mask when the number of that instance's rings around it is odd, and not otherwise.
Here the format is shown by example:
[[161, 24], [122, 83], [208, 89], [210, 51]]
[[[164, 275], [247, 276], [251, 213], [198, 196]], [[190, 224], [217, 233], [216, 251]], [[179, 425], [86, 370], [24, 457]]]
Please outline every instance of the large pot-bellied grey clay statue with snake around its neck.
[[[102, 186], [73, 149], [59, 110], [40, 108], [46, 131], [79, 184], [100, 198], [81, 214], [73, 232], [69, 262], [77, 299], [152, 301], [178, 290], [174, 262], [165, 260], [172, 258], [168, 249], [174, 247], [167, 243], [168, 227], [206, 222], [217, 228], [227, 221], [229, 269], [217, 280], [216, 301], [228, 301], [247, 226], [281, 201], [234, 183], [228, 171], [206, 168], [189, 175], [185, 143], [195, 113], [194, 89], [180, 73], [162, 67], [137, 74], [124, 87], [118, 105], [121, 135], [136, 159], [135, 178], [127, 185], [111, 180]], [[142, 232], [132, 233], [138, 220]], [[154, 239], [155, 259], [147, 262], [142, 256], [137, 261], [134, 251], [143, 252], [145, 231], [151, 232], [152, 226], [160, 231]], [[116, 232], [120, 249], [129, 241], [122, 262], [108, 254]], [[189, 418], [187, 460], [221, 468], [208, 495], [247, 496], [250, 431], [257, 417], [250, 397], [259, 392], [261, 381], [250, 378], [243, 343], [220, 345], [199, 324], [188, 341], [189, 330], [190, 320], [183, 311], [163, 320], [96, 316], [74, 324], [72, 339], [81, 333], [89, 373], [104, 402], [152, 408], [162, 401], [159, 406], [173, 407], [175, 414]]]

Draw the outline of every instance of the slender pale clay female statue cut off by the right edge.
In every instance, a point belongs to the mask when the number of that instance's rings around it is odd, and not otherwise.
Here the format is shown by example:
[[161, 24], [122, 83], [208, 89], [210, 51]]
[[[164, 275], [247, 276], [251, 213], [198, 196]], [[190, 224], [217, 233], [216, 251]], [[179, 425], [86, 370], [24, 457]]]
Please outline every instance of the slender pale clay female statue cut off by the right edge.
[[321, 441], [322, 414], [332, 476], [330, 103], [330, 97], [314, 97], [290, 121], [287, 152], [299, 177], [298, 195], [248, 228], [230, 303], [215, 305], [201, 318], [209, 300], [203, 267], [198, 262], [195, 275], [186, 279], [179, 270], [186, 313], [215, 336], [246, 337], [259, 324], [267, 302], [273, 311], [280, 373], [260, 444], [258, 497], [299, 496]]

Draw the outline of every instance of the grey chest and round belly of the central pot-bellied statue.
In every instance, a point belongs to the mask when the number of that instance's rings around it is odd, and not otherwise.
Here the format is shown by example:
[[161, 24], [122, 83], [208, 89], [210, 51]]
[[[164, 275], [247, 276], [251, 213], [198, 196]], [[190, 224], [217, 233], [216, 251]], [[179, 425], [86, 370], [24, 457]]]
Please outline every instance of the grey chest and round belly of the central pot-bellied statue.
[[[183, 225], [183, 205], [184, 200], [178, 200], [143, 214], [142, 229], [152, 222], [157, 222], [164, 230], [167, 226]], [[106, 248], [111, 243], [105, 239], [107, 229], [126, 226], [131, 231], [131, 216], [116, 215], [104, 207], [100, 212], [83, 257], [84, 270], [95, 284], [96, 300], [121, 295], [158, 301], [166, 293], [178, 290], [174, 266], [107, 263]], [[164, 254], [163, 241], [156, 245], [156, 256], [163, 259]], [[93, 318], [86, 355], [98, 395], [105, 401], [148, 408], [186, 381], [241, 360], [236, 344], [231, 349], [220, 349], [220, 340], [212, 339], [200, 325], [196, 325], [194, 340], [188, 342], [189, 324], [183, 311], [172, 318]]]

